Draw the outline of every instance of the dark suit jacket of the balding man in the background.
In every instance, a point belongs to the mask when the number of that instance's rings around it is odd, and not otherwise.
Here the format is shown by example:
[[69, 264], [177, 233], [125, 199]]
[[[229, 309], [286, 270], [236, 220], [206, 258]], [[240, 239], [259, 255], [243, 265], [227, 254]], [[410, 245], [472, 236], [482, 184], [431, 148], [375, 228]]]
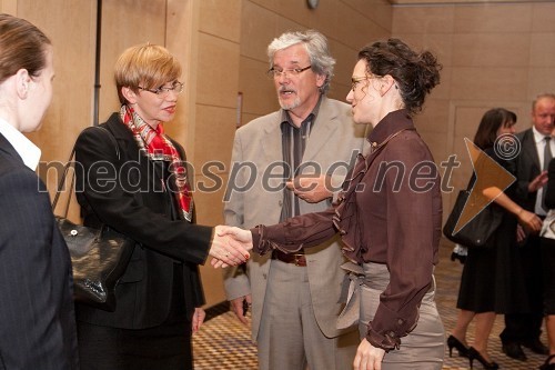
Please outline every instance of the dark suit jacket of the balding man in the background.
[[525, 210], [534, 212], [537, 192], [528, 192], [528, 184], [536, 178], [542, 169], [537, 157], [536, 143], [532, 128], [517, 133], [521, 141], [521, 154], [516, 157], [516, 199]]

